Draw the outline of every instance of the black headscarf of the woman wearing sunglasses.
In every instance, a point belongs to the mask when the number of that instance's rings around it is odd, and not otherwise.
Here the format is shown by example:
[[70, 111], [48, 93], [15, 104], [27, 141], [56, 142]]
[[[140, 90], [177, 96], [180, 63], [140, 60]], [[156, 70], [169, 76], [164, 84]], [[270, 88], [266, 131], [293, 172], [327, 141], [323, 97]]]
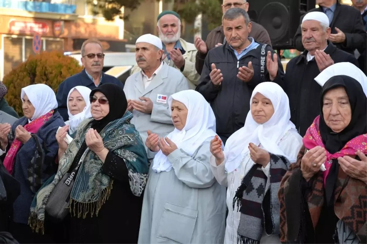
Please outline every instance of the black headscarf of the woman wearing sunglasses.
[[110, 106], [110, 112], [108, 115], [106, 115], [106, 117], [101, 120], [94, 120], [92, 122], [92, 128], [97, 130], [99, 133], [103, 128], [106, 127], [108, 123], [124, 116], [127, 109], [127, 100], [124, 90], [112, 83], [105, 83], [96, 89], [93, 89], [91, 91], [90, 97], [93, 97], [97, 91], [105, 95]]

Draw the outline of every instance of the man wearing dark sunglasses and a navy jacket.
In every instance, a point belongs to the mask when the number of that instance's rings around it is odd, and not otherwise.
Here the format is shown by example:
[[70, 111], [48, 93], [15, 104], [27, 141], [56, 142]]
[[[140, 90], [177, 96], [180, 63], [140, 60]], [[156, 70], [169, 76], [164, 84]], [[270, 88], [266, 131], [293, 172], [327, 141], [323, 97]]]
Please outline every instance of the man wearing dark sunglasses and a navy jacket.
[[84, 66], [84, 70], [64, 80], [59, 85], [56, 94], [58, 111], [64, 121], [69, 120], [68, 101], [66, 100], [68, 99], [69, 91], [73, 87], [86, 86], [93, 90], [104, 83], [113, 83], [122, 88], [124, 87], [120, 80], [102, 72], [104, 57], [105, 54], [103, 53], [101, 42], [98, 40], [89, 39], [81, 45], [81, 63]]

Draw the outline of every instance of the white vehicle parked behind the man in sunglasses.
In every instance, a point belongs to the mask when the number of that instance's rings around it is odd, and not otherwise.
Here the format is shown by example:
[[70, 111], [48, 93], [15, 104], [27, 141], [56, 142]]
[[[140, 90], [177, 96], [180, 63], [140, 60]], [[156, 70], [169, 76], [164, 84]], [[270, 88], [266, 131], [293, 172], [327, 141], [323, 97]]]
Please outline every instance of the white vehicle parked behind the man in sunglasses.
[[[64, 55], [71, 56], [79, 61], [81, 64], [81, 53], [64, 52]], [[103, 72], [108, 75], [115, 76], [122, 83], [130, 76], [131, 68], [136, 64], [135, 53], [132, 52], [105, 52], [105, 59], [103, 60]]]

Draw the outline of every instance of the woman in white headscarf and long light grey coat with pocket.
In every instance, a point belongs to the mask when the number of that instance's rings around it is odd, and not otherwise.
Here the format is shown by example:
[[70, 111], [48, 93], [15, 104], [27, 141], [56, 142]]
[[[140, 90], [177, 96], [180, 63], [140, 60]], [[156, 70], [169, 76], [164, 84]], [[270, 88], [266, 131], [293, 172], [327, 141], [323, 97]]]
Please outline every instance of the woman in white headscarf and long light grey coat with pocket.
[[[225, 187], [209, 164], [215, 116], [194, 90], [168, 98], [175, 126], [166, 138], [148, 131], [149, 153], [158, 152], [149, 170], [139, 244], [223, 244]], [[163, 241], [163, 242], [162, 242]]]

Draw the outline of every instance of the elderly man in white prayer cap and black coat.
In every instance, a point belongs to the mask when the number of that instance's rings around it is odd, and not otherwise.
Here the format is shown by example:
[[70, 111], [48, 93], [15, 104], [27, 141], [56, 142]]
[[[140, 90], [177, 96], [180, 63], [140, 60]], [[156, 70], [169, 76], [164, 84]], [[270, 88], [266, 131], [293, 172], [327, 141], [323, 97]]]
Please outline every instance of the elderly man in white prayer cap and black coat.
[[[299, 134], [304, 136], [320, 113], [318, 98], [321, 86], [314, 80], [316, 76], [334, 63], [350, 62], [358, 65], [358, 62], [354, 55], [338, 49], [328, 41], [329, 19], [323, 12], [306, 14], [301, 28], [306, 50], [287, 63], [283, 89], [289, 98], [291, 121], [296, 125]], [[276, 64], [272, 62], [270, 67], [275, 69]]]

